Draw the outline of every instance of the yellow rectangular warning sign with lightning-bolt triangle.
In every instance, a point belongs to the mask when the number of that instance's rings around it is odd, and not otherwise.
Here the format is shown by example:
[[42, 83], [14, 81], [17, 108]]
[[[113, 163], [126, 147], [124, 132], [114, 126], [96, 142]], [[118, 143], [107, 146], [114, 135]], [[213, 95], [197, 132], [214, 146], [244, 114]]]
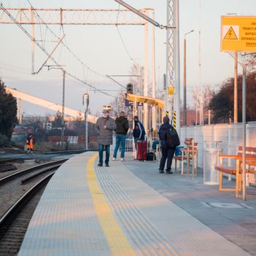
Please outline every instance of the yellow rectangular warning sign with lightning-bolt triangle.
[[256, 52], [256, 16], [222, 16], [221, 50]]

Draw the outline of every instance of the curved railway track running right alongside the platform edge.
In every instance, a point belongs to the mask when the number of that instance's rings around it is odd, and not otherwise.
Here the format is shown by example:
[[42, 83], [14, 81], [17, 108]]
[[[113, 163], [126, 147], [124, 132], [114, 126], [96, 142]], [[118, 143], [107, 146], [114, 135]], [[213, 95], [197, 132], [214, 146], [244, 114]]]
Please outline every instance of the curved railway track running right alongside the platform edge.
[[61, 159], [21, 170], [0, 180], [0, 255], [16, 255], [46, 184]]

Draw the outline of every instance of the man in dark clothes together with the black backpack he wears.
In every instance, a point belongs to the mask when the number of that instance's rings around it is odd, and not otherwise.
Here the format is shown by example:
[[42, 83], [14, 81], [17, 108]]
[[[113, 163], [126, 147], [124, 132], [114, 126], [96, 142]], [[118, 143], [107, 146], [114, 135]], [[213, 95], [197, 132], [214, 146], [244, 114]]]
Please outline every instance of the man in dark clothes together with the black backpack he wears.
[[162, 158], [160, 160], [159, 173], [164, 173], [165, 162], [167, 159], [166, 173], [172, 174], [173, 172], [171, 171], [171, 165], [173, 162], [173, 155], [176, 146], [179, 145], [179, 139], [176, 129], [174, 129], [173, 126], [170, 125], [170, 118], [168, 116], [165, 116], [163, 118], [163, 122], [164, 124], [161, 125], [158, 132], [162, 148]]

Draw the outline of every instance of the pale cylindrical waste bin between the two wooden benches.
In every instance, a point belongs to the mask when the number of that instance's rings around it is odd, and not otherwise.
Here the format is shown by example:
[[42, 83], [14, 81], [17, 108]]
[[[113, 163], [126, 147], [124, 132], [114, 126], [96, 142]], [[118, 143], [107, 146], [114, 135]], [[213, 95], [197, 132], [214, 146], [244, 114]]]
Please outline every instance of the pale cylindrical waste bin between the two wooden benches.
[[222, 148], [219, 143], [222, 141], [205, 142], [203, 151], [203, 184], [217, 185], [219, 184], [219, 172], [215, 170], [215, 165], [219, 165], [219, 154]]

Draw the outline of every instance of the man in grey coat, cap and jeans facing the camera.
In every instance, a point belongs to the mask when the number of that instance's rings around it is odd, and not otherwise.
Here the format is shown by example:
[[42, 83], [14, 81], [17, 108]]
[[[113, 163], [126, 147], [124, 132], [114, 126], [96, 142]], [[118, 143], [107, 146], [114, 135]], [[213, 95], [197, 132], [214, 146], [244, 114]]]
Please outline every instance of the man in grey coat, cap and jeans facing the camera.
[[98, 144], [99, 144], [99, 164], [103, 166], [103, 151], [105, 148], [106, 159], [105, 165], [109, 167], [110, 157], [110, 145], [113, 143], [113, 130], [116, 129], [116, 122], [109, 116], [109, 110], [102, 111], [103, 116], [99, 117], [96, 122], [96, 129], [98, 132]]

